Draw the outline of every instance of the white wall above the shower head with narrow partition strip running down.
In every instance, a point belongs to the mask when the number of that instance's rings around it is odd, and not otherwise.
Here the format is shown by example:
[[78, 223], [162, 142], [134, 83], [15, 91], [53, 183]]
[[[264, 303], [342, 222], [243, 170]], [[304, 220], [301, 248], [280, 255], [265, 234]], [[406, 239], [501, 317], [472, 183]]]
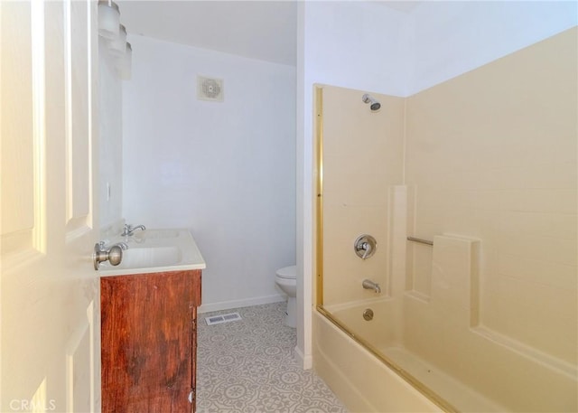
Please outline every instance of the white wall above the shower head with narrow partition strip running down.
[[[305, 2], [298, 8], [297, 71], [297, 347], [312, 366], [313, 85], [402, 94], [405, 14], [357, 2]], [[361, 96], [359, 96], [361, 99]]]

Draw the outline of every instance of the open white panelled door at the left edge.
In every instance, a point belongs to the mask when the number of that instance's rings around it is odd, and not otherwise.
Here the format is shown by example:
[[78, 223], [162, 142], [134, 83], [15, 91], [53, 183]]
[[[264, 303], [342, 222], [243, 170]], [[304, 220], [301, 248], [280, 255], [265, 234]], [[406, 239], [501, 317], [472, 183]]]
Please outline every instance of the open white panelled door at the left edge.
[[96, 3], [0, 1], [0, 411], [98, 411]]

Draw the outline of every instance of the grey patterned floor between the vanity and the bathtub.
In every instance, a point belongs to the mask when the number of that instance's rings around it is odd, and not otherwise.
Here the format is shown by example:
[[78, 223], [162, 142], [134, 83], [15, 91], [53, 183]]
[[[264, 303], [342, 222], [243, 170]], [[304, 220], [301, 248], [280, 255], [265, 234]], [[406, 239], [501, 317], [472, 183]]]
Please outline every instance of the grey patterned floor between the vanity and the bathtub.
[[[294, 360], [295, 329], [285, 303], [199, 314], [197, 411], [200, 413], [347, 413], [313, 371]], [[207, 325], [238, 312], [242, 320]]]

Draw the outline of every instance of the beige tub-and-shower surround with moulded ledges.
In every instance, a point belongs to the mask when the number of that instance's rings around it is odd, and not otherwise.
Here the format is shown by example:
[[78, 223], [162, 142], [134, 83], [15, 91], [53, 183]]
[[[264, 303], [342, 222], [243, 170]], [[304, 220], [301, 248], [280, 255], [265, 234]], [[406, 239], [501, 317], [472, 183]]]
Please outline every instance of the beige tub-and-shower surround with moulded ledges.
[[578, 408], [577, 38], [407, 99], [373, 93], [375, 113], [363, 91], [320, 87], [318, 304], [389, 363], [331, 346], [340, 331], [315, 314], [314, 366], [351, 410]]

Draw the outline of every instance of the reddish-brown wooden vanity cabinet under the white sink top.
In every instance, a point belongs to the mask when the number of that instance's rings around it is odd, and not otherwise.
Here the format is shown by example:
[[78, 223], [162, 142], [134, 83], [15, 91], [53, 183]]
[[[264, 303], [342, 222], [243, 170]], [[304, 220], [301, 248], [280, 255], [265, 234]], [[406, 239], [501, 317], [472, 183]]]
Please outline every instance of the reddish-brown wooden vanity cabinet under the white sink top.
[[104, 413], [195, 411], [200, 275], [100, 278]]

